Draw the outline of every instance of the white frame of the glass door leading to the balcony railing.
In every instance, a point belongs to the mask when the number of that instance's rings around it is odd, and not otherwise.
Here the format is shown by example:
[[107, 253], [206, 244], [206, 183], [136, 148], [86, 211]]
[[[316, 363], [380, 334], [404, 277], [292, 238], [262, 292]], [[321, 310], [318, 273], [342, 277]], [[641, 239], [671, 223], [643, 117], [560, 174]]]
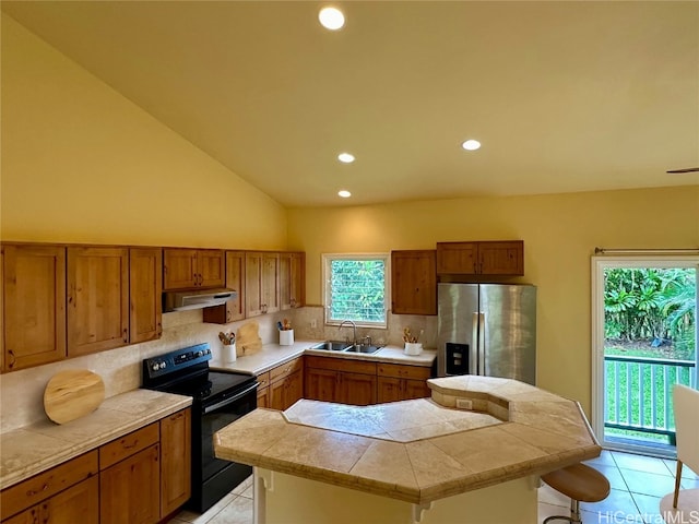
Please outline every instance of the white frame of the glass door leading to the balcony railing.
[[[614, 267], [694, 267], [699, 279], [699, 255], [695, 254], [637, 254], [637, 255], [593, 255], [591, 259], [591, 368], [592, 368], [592, 430], [604, 449], [630, 451], [640, 454], [662, 454], [644, 445], [619, 444], [604, 439], [604, 270]], [[699, 310], [699, 285], [697, 286], [697, 310]], [[699, 315], [697, 315], [699, 317]], [[696, 327], [695, 358], [699, 361], [699, 325]], [[697, 368], [695, 372], [699, 373]], [[698, 382], [699, 383], [699, 382]], [[668, 454], [670, 456], [670, 454]]]

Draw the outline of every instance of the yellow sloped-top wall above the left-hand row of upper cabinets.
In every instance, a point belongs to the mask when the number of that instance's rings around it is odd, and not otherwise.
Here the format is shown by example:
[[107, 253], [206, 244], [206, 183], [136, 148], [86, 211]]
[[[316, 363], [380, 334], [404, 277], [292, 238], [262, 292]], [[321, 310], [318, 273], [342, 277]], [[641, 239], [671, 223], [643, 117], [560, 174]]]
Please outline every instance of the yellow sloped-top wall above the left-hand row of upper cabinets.
[[286, 248], [286, 211], [2, 15], [1, 238]]

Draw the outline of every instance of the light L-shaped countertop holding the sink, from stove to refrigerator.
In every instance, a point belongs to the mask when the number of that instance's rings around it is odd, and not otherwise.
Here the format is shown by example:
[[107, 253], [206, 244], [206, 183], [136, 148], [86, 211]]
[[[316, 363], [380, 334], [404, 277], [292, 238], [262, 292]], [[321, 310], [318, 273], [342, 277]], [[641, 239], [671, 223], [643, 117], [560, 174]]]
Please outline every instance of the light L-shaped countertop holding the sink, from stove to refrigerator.
[[279, 344], [265, 344], [252, 355], [237, 357], [233, 362], [224, 362], [221, 352], [213, 349], [213, 358], [209, 362], [212, 369], [238, 371], [242, 373], [260, 374], [270, 369], [287, 362], [301, 355], [320, 355], [329, 358], [344, 358], [347, 360], [368, 360], [374, 362], [404, 364], [410, 366], [430, 367], [437, 358], [437, 352], [423, 349], [417, 356], [405, 355], [402, 347], [384, 346], [372, 354], [356, 354], [343, 352], [327, 352], [323, 349], [310, 349], [310, 346], [322, 341], [296, 341], [291, 346]]

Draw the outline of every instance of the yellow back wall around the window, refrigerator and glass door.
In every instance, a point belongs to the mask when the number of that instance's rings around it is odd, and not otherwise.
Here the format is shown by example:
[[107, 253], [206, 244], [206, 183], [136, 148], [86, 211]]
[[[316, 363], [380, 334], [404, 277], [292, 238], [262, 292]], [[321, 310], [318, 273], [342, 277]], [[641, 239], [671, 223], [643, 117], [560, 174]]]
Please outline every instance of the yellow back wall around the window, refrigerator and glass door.
[[538, 287], [538, 385], [590, 413], [590, 257], [594, 248], [699, 247], [699, 187], [289, 211], [306, 251], [307, 301], [321, 303], [321, 253], [524, 240], [522, 282]]

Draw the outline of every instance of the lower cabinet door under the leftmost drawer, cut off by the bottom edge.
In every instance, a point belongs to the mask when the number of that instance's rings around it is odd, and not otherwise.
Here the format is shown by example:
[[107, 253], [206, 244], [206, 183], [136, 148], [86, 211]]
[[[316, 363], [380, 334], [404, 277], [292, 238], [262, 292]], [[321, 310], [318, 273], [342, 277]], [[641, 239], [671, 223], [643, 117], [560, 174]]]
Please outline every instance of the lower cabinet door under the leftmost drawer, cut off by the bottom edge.
[[99, 522], [99, 480], [83, 480], [40, 504], [43, 523], [97, 524]]

